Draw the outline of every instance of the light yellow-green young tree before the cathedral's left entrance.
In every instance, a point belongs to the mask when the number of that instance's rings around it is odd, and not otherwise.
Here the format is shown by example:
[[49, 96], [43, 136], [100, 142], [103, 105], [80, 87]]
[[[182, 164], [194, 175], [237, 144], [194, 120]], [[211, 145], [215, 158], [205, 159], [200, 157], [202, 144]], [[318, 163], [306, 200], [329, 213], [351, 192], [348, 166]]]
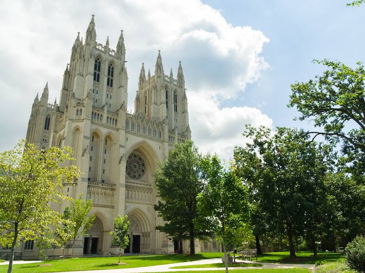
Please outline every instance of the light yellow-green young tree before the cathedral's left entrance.
[[78, 199], [71, 201], [70, 207], [70, 221], [73, 222], [72, 226], [72, 252], [71, 257], [73, 257], [73, 247], [75, 245], [75, 241], [80, 236], [88, 235], [87, 232], [90, 230], [94, 220], [95, 215], [89, 213], [92, 209], [92, 200], [88, 201], [82, 200], [82, 195], [79, 196]]

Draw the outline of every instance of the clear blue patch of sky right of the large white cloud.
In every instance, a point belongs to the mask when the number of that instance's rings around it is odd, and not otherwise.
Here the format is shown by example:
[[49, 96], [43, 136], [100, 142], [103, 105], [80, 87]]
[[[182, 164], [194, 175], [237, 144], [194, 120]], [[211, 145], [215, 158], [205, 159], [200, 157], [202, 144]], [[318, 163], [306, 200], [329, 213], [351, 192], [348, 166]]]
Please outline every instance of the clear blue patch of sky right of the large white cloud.
[[[286, 105], [292, 83], [323, 71], [312, 59], [337, 59], [349, 66], [365, 61], [365, 5], [347, 7], [349, 0], [203, 2], [220, 10], [228, 23], [251, 25], [270, 39], [262, 51], [270, 68], [246, 87], [239, 103], [262, 110], [274, 126], [310, 128], [306, 121], [293, 121], [298, 114]], [[224, 102], [236, 104], [236, 100]]]

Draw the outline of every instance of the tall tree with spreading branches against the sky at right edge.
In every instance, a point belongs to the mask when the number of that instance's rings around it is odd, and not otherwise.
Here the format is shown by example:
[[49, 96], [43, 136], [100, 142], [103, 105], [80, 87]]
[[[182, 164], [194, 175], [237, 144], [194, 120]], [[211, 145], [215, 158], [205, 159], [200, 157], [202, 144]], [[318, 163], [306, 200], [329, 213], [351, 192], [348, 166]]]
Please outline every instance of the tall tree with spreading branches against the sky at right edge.
[[292, 84], [290, 107], [302, 114], [300, 120], [310, 119], [320, 131], [306, 134], [325, 136], [343, 141], [342, 150], [351, 168], [348, 171], [365, 182], [365, 69], [362, 63], [350, 68], [343, 63], [314, 60], [327, 66], [323, 75], [314, 80]]

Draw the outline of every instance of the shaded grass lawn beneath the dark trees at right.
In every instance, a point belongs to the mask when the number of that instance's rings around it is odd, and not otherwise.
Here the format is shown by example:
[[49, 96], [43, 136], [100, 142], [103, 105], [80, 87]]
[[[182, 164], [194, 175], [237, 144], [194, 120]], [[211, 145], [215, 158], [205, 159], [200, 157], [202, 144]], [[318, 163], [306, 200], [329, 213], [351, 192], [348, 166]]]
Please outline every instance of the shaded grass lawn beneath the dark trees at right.
[[316, 261], [330, 261], [334, 262], [343, 258], [342, 253], [318, 252], [318, 256], [314, 257], [310, 251], [297, 251], [295, 259], [290, 259], [289, 252], [271, 252], [257, 255], [258, 262], [268, 263], [302, 263], [315, 264]]

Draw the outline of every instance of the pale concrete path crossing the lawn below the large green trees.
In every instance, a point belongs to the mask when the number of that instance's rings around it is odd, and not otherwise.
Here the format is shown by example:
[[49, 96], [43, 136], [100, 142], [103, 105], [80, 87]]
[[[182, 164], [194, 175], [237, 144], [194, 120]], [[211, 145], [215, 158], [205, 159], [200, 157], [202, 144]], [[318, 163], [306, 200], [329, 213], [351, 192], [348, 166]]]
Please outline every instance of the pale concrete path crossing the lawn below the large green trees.
[[[236, 259], [237, 260], [237, 259]], [[239, 260], [237, 260], [239, 261]], [[200, 264], [211, 264], [211, 263], [220, 263], [222, 262], [220, 258], [214, 259], [205, 259], [205, 260], [197, 260], [192, 262], [183, 262], [183, 263], [173, 263], [173, 264], [164, 264], [164, 265], [154, 265], [154, 266], [146, 266], [146, 267], [135, 267], [135, 268], [126, 268], [126, 269], [105, 269], [105, 270], [90, 270], [90, 271], [73, 271], [70, 273], [147, 273], [147, 272], [180, 272], [180, 271], [211, 271], [211, 270], [224, 270], [225, 268], [184, 268], [184, 269], [170, 269], [170, 267], [182, 266], [182, 265], [200, 265]], [[245, 261], [247, 263], [255, 263], [250, 261]], [[236, 269], [270, 269], [270, 268], [313, 268], [312, 264], [273, 264], [273, 263], [262, 263], [263, 266], [260, 267], [230, 267], [229, 270]]]

